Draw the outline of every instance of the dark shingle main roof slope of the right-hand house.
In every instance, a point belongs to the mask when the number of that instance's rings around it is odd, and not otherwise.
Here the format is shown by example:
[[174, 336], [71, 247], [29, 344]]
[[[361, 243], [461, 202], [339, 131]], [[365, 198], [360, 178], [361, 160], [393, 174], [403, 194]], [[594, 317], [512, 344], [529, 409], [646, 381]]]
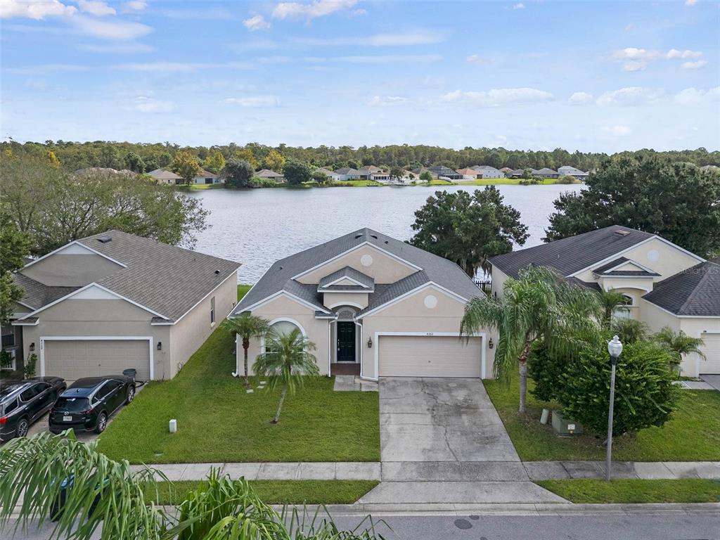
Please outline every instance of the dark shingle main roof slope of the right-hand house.
[[519, 270], [530, 265], [549, 266], [563, 276], [570, 276], [652, 236], [642, 230], [611, 225], [540, 246], [504, 253], [491, 258], [490, 263], [515, 278]]

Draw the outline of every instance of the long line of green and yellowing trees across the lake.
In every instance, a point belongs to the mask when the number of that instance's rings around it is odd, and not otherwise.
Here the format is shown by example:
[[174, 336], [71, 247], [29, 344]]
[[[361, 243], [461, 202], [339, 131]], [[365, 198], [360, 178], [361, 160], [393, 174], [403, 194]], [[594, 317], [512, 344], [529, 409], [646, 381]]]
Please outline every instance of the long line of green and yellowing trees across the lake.
[[[3, 150], [13, 148], [19, 143], [13, 141], [0, 143]], [[286, 160], [300, 161], [314, 167], [337, 169], [343, 167], [359, 168], [364, 165], [376, 165], [390, 170], [392, 167], [417, 168], [431, 165], [444, 165], [452, 169], [474, 165], [489, 165], [496, 168], [553, 168], [570, 165], [582, 171], [592, 171], [607, 158], [643, 158], [657, 157], [670, 161], [694, 163], [698, 166], [720, 165], [720, 152], [706, 148], [696, 150], [655, 150], [625, 151], [608, 155], [606, 153], [569, 152], [562, 148], [546, 150], [508, 150], [505, 148], [471, 148], [462, 150], [441, 148], [429, 145], [386, 145], [386, 146], [325, 146], [299, 147], [280, 144], [276, 147], [259, 143], [212, 146], [181, 146], [172, 143], [117, 143], [112, 141], [94, 141], [76, 143], [63, 140], [46, 140], [44, 143], [23, 143], [22, 148], [30, 153], [51, 153], [60, 166], [68, 171], [82, 168], [107, 167], [130, 169], [135, 172], [148, 172], [156, 168], [168, 167], [180, 152], [189, 153], [199, 166], [220, 173], [225, 161], [239, 158], [253, 168], [282, 168]]]

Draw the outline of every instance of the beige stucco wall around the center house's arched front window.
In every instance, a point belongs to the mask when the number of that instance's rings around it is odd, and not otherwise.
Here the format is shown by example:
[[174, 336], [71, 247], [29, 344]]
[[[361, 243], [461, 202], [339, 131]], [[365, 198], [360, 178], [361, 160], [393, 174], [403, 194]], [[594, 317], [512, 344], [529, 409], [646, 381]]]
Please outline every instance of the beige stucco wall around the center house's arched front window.
[[[310, 307], [284, 296], [276, 297], [270, 302], [261, 305], [253, 310], [252, 314], [271, 322], [283, 319], [291, 320], [291, 322], [300, 325], [301, 330], [305, 332], [307, 338], [309, 338], [312, 343], [315, 343], [316, 349], [312, 351], [312, 354], [318, 359], [320, 374], [328, 374], [329, 323], [327, 319], [316, 319], [315, 310], [311, 310]], [[239, 369], [238, 374], [243, 374], [243, 346], [241, 342], [238, 342], [236, 353]], [[248, 366], [250, 373], [253, 372], [253, 363], [260, 353], [261, 340], [251, 340], [250, 348], [248, 349]]]

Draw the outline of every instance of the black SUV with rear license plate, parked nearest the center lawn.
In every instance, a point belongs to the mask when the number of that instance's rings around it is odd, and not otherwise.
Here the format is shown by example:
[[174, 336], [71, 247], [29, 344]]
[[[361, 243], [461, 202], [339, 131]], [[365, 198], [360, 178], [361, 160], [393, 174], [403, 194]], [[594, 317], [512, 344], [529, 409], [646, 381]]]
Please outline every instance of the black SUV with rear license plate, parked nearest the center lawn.
[[135, 398], [135, 381], [125, 375], [77, 379], [63, 392], [50, 410], [50, 431], [102, 433], [107, 419], [124, 403]]

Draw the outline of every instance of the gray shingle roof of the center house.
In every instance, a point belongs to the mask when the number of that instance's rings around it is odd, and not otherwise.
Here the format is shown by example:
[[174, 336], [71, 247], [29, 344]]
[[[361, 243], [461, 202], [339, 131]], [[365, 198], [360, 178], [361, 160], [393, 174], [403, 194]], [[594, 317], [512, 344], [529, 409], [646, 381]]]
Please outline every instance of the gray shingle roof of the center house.
[[363, 312], [390, 302], [400, 294], [430, 282], [468, 300], [479, 294], [479, 289], [472, 279], [454, 262], [372, 229], [363, 228], [276, 261], [243, 297], [243, 300], [235, 306], [233, 314], [243, 312], [248, 307], [283, 291], [300, 297], [321, 312], [328, 312], [323, 305], [321, 295], [317, 293], [318, 285], [300, 284], [293, 279], [294, 276], [366, 243], [407, 261], [410, 265], [418, 268], [418, 271], [393, 284], [375, 284], [374, 292], [369, 294], [370, 305]]

